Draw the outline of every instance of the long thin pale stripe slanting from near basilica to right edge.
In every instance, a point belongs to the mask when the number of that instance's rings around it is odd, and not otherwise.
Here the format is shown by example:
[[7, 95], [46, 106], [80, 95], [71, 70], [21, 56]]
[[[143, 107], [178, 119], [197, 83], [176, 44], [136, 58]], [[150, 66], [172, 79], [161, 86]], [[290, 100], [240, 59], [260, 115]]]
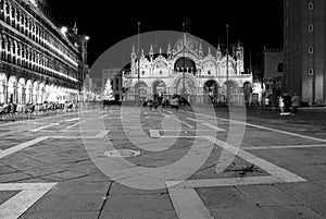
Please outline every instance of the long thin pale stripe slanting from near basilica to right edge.
[[308, 135], [301, 135], [301, 134], [298, 134], [298, 133], [287, 132], [287, 131], [283, 131], [283, 130], [275, 130], [275, 129], [272, 129], [272, 127], [265, 127], [265, 126], [251, 124], [251, 123], [247, 123], [247, 122], [240, 122], [240, 121], [236, 121], [236, 120], [228, 120], [228, 119], [225, 119], [225, 118], [211, 117], [211, 115], [203, 114], [203, 113], [193, 113], [193, 112], [189, 112], [189, 111], [185, 111], [185, 110], [180, 110], [180, 111], [191, 113], [191, 114], [196, 114], [196, 115], [202, 115], [202, 117], [206, 117], [206, 118], [217, 119], [217, 120], [222, 120], [222, 121], [235, 122], [235, 123], [238, 123], [238, 124], [243, 124], [243, 125], [251, 126], [251, 127], [272, 131], [272, 132], [276, 132], [276, 133], [280, 133], [280, 134], [285, 134], [285, 135], [290, 135], [290, 136], [301, 137], [301, 138], [305, 138], [305, 139], [312, 139], [312, 141], [316, 141], [316, 142], [326, 143], [326, 139], [319, 138], [319, 137], [311, 137], [311, 136], [308, 136]]

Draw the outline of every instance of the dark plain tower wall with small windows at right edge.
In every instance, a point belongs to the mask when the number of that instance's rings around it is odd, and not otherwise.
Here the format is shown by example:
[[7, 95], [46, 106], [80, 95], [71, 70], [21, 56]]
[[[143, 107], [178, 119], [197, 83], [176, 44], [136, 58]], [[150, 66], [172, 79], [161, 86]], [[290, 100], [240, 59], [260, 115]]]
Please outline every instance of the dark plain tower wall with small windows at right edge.
[[285, 92], [308, 102], [326, 101], [325, 5], [324, 0], [284, 1]]

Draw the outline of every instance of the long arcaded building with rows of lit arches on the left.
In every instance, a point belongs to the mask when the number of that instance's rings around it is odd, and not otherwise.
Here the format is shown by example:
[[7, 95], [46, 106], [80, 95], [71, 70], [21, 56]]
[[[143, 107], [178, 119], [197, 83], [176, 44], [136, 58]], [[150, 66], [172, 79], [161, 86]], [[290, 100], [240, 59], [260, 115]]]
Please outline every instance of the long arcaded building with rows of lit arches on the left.
[[0, 104], [79, 100], [86, 44], [62, 33], [40, 0], [0, 0]]

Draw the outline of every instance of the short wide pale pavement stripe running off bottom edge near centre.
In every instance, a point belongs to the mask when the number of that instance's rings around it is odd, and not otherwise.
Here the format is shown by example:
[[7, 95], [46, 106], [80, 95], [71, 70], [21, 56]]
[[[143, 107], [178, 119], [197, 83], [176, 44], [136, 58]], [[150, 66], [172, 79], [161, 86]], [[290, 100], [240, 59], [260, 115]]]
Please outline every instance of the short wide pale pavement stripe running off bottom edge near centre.
[[168, 187], [168, 195], [179, 219], [214, 219], [193, 188]]

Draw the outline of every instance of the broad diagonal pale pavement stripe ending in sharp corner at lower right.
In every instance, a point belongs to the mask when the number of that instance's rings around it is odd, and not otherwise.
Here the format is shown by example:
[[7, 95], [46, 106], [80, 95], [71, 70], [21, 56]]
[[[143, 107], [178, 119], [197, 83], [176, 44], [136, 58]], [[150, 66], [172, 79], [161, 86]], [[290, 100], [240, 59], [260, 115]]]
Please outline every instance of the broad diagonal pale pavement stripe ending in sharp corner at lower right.
[[205, 137], [209, 142], [218, 145], [220, 147], [227, 149], [228, 151], [241, 157], [242, 159], [247, 160], [248, 162], [251, 162], [261, 169], [265, 170], [269, 174], [283, 180], [284, 182], [304, 182], [305, 179], [289, 172], [286, 169], [283, 169], [272, 162], [268, 162], [267, 160], [264, 160], [262, 158], [259, 158], [248, 151], [244, 151], [243, 149], [237, 148], [233, 145], [229, 145], [221, 139], [217, 139], [215, 137], [206, 136]]

